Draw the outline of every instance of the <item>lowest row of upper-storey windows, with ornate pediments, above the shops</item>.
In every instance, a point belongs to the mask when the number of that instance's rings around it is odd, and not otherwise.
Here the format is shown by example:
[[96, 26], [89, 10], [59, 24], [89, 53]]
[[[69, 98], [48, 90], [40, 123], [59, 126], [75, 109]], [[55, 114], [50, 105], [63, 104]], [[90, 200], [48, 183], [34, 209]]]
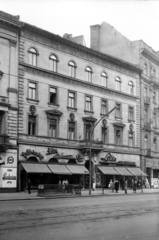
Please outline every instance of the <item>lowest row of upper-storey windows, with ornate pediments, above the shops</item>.
[[[59, 121], [56, 117], [49, 118], [49, 130], [48, 136], [51, 138], [58, 138], [58, 129], [59, 129]], [[85, 122], [84, 123], [84, 139], [90, 140], [90, 131], [92, 129], [92, 122]], [[37, 117], [29, 115], [28, 119], [28, 135], [36, 135], [36, 128], [37, 128]], [[77, 122], [68, 121], [68, 139], [75, 140], [77, 137]], [[123, 144], [123, 128], [115, 127], [114, 128], [114, 139], [116, 145]], [[108, 134], [108, 127], [101, 127], [101, 140], [104, 144], [109, 143], [109, 134]], [[128, 141], [129, 146], [135, 146], [135, 135], [134, 132], [128, 131]]]

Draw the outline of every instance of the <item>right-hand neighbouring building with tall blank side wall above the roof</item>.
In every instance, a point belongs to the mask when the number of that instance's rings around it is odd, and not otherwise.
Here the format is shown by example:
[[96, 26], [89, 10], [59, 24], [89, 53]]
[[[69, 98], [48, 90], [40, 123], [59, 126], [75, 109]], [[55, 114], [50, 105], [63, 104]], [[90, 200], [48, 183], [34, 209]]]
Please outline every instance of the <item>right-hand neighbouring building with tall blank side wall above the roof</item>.
[[130, 41], [106, 22], [91, 26], [91, 48], [142, 69], [141, 169], [151, 182], [159, 178], [159, 53], [142, 40]]

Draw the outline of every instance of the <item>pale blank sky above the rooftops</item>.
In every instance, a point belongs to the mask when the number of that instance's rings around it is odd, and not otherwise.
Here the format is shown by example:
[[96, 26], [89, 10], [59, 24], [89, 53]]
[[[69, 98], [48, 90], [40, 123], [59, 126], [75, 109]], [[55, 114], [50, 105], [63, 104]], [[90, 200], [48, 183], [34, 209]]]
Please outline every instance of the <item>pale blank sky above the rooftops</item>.
[[0, 10], [60, 36], [84, 35], [87, 47], [90, 26], [107, 22], [131, 41], [159, 50], [159, 1], [0, 0]]

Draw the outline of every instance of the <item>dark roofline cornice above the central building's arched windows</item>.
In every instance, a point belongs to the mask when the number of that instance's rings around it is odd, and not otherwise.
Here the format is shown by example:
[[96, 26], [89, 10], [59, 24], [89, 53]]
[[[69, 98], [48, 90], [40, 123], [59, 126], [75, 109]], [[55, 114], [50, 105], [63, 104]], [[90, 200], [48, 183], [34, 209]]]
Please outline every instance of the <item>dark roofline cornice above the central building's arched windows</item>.
[[[108, 55], [108, 54], [103, 54], [101, 52], [95, 51], [95, 50], [90, 49], [88, 47], [82, 46], [80, 44], [77, 44], [77, 43], [72, 42], [70, 40], [67, 40], [65, 38], [62, 38], [62, 37], [60, 37], [60, 36], [58, 36], [56, 34], [53, 34], [53, 33], [50, 33], [50, 32], [48, 32], [46, 30], [43, 30], [41, 28], [32, 26], [32, 25], [30, 25], [28, 23], [24, 23], [23, 30], [24, 30], [23, 34], [24, 34], [25, 37], [26, 37], [25, 30], [30, 30], [33, 33], [38, 33], [38, 34], [44, 36], [45, 38], [46, 37], [49, 38], [52, 41], [61, 43], [61, 44], [66, 45], [68, 47], [69, 46], [73, 47], [75, 49], [78, 49], [80, 52], [82, 51], [82, 52], [85, 52], [85, 53], [87, 53], [87, 54], [89, 54], [91, 56], [98, 57], [100, 59], [103, 59], [104, 61], [116, 64], [119, 67], [123, 67], [124, 69], [129, 69], [130, 71], [134, 71], [137, 74], [141, 74], [141, 72], [142, 72], [142, 70], [139, 67], [137, 67], [137, 66], [135, 66], [135, 65], [133, 65], [131, 63], [125, 62], [125, 61], [123, 61], [123, 60], [121, 60], [119, 58], [115, 58], [114, 56], [111, 56], [111, 55]], [[33, 36], [33, 34], [30, 37], [32, 37], [32, 40], [34, 40], [34, 38], [35, 38]]]

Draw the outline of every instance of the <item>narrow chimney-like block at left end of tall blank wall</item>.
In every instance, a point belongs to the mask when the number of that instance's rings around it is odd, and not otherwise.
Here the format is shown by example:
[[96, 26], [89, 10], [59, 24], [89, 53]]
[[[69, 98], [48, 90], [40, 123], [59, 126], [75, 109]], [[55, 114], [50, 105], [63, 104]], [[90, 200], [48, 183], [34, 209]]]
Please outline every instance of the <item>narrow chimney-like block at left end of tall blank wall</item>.
[[93, 50], [99, 51], [99, 34], [100, 34], [100, 25], [90, 26], [90, 47]]

